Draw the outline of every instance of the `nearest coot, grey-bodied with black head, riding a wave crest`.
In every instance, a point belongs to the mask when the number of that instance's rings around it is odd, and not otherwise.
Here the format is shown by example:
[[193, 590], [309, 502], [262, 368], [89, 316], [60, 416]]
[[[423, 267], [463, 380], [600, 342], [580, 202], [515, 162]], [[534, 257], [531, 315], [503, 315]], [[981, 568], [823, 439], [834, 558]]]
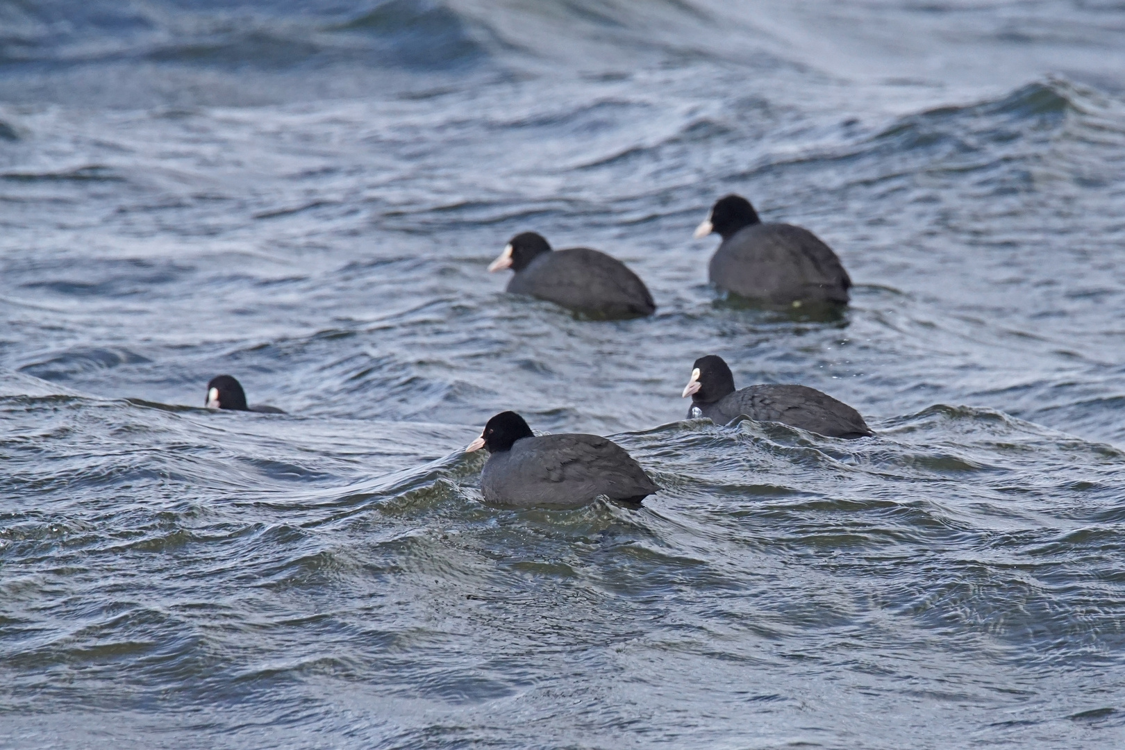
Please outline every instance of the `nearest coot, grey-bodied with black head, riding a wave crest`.
[[598, 435], [536, 436], [515, 412], [502, 412], [465, 451], [492, 454], [480, 472], [485, 500], [574, 508], [598, 496], [640, 503], [660, 489], [623, 448]]

